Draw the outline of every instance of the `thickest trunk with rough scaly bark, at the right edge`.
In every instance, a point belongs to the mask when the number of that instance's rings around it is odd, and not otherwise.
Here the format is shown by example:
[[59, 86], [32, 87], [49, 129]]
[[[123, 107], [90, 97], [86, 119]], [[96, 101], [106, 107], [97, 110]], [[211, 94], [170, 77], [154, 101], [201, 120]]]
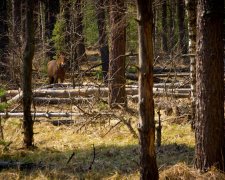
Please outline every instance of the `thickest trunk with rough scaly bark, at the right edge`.
[[224, 170], [223, 1], [197, 5], [195, 166]]

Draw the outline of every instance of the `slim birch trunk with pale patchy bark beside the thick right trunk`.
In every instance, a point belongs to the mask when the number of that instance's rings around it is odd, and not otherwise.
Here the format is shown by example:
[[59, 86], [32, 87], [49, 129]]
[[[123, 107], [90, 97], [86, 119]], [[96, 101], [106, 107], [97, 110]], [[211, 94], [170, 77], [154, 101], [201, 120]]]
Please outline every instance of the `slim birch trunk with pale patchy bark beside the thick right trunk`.
[[189, 35], [189, 57], [190, 57], [190, 77], [191, 77], [191, 124], [195, 124], [196, 108], [196, 0], [186, 0], [188, 15], [188, 35]]

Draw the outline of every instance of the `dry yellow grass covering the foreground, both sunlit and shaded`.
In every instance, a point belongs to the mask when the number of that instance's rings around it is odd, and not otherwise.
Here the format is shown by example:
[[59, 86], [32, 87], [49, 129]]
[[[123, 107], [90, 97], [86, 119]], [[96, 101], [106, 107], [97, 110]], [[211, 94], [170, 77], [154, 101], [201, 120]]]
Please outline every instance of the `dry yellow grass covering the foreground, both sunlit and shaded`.
[[[129, 107], [132, 108], [133, 114], [120, 111], [115, 114], [130, 119], [137, 132], [137, 107], [131, 102]], [[84, 109], [88, 108], [90, 107]], [[102, 109], [108, 110], [101, 103], [96, 103], [92, 107], [94, 111]], [[57, 107], [51, 110], [57, 110]], [[161, 119], [162, 146], [157, 148], [160, 179], [225, 179], [225, 175], [216, 169], [201, 174], [192, 168], [195, 142], [194, 133], [187, 119], [178, 120], [174, 114], [168, 117], [163, 111]], [[0, 143], [0, 155], [4, 161], [45, 166], [27, 170], [5, 169], [1, 171], [0, 179], [139, 179], [138, 140], [123, 123], [105, 135], [116, 123], [113, 118], [111, 124], [108, 120], [105, 124], [93, 122], [81, 129], [76, 124], [54, 126], [50, 122], [43, 121], [46, 119], [36, 120], [39, 120], [34, 124], [34, 142], [37, 148], [33, 150], [22, 148], [21, 119], [5, 120], [4, 141]], [[78, 129], [80, 130], [77, 131]], [[92, 164], [93, 145], [95, 160]], [[73, 158], [67, 164], [73, 153]]]

